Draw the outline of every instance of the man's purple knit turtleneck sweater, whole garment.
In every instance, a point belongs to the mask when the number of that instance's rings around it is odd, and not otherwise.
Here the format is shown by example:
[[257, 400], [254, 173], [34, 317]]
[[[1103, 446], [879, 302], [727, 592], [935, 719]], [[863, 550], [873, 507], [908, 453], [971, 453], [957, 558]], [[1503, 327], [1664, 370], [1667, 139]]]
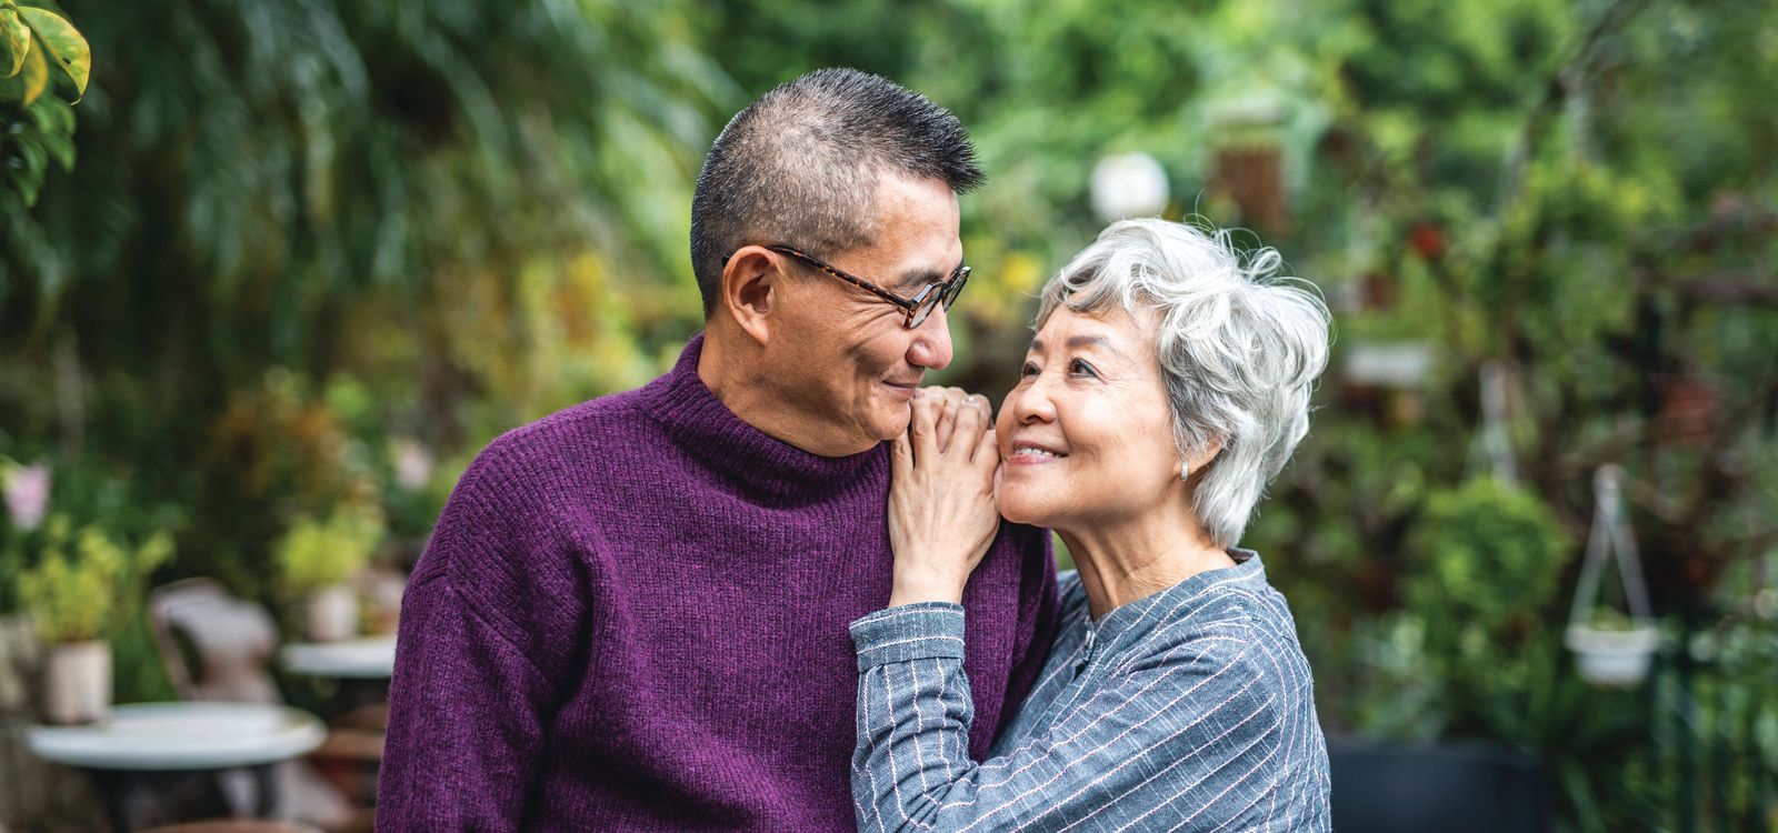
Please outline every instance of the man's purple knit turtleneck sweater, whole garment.
[[[701, 348], [464, 472], [402, 604], [377, 829], [853, 828], [846, 625], [889, 602], [887, 448], [757, 432]], [[1051, 643], [1047, 535], [1003, 524], [964, 607], [980, 758]]]

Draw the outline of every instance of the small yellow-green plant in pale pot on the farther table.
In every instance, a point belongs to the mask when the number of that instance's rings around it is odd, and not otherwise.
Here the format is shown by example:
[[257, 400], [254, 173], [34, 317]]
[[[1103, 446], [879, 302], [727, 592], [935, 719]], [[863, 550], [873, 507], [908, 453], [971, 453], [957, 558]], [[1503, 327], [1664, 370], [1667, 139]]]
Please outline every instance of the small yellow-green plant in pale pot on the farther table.
[[357, 636], [357, 591], [352, 577], [382, 542], [382, 515], [375, 510], [336, 510], [327, 520], [297, 519], [277, 542], [284, 590], [302, 599], [309, 639], [341, 641]]

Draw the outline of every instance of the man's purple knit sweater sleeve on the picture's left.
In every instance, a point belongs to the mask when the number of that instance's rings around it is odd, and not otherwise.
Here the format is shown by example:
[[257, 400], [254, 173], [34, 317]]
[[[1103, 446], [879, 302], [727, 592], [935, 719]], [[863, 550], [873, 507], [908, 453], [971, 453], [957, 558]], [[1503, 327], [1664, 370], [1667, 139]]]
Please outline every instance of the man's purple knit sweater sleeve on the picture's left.
[[523, 435], [464, 472], [402, 600], [377, 829], [525, 826], [585, 593]]

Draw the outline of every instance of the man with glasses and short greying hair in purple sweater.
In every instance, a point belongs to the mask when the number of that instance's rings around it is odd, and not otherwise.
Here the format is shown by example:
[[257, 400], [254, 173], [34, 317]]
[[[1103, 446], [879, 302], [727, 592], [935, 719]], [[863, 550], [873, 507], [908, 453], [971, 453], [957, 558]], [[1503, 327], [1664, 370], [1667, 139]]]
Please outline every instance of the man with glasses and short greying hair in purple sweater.
[[[848, 829], [855, 657], [891, 590], [884, 440], [951, 361], [962, 126], [823, 69], [717, 137], [704, 334], [649, 385], [496, 439], [402, 607], [379, 829]], [[1044, 664], [1047, 535], [964, 593], [980, 758]]]

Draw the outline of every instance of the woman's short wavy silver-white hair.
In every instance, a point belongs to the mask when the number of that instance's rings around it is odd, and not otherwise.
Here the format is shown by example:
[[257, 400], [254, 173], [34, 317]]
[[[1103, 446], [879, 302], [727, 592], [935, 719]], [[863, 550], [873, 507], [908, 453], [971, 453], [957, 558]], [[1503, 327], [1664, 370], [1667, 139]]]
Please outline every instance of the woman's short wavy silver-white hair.
[[1332, 316], [1314, 284], [1277, 275], [1275, 249], [1243, 258], [1229, 231], [1166, 220], [1106, 227], [1044, 286], [1037, 327], [1060, 305], [1157, 313], [1156, 352], [1173, 442], [1221, 451], [1193, 490], [1216, 547], [1241, 540], [1253, 506], [1309, 433], [1309, 393], [1328, 362]]

